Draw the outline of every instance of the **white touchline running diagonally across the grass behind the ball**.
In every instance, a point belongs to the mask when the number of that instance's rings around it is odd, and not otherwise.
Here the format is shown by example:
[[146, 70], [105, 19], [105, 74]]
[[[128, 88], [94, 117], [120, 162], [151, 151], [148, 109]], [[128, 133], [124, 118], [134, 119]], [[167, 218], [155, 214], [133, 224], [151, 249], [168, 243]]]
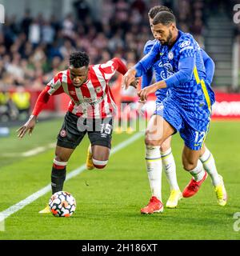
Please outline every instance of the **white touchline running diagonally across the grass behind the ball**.
[[[126, 139], [125, 141], [119, 143], [117, 146], [111, 150], [111, 155], [118, 152], [118, 150], [122, 150], [124, 147], [130, 145], [132, 142], [136, 141], [138, 138], [142, 137], [141, 132], [138, 134], [134, 134], [132, 137]], [[72, 170], [69, 174], [66, 175], [66, 181], [70, 178], [74, 178], [78, 174], [82, 173], [83, 170], [86, 170], [85, 164], [80, 166], [78, 169]], [[16, 203], [14, 206], [10, 206], [6, 210], [0, 212], [0, 223], [3, 222], [6, 218], [8, 218], [11, 214], [14, 214], [18, 210], [21, 210], [23, 207], [29, 205], [31, 202], [34, 202], [38, 198], [42, 197], [42, 195], [48, 193], [51, 190], [50, 184], [43, 187], [41, 190], [38, 190], [34, 194], [31, 194], [29, 197], [23, 199], [22, 201]], [[1, 229], [0, 229], [1, 231]]]

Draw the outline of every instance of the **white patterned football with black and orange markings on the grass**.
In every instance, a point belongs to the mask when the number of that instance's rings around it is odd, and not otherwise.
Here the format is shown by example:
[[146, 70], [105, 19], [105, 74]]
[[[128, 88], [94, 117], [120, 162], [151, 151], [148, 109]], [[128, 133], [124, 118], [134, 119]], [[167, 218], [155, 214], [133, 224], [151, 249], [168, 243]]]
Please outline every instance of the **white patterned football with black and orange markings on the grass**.
[[70, 217], [76, 210], [76, 200], [66, 191], [54, 193], [49, 200], [50, 211], [55, 217]]

